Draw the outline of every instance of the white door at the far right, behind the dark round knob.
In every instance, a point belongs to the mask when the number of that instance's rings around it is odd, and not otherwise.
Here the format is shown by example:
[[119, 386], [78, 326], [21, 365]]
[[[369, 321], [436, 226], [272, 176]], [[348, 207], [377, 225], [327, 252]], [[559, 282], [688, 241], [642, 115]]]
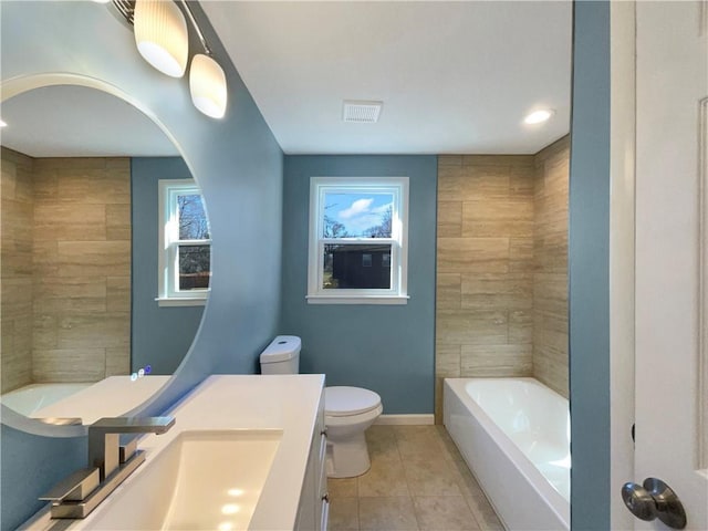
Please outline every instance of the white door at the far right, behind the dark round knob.
[[[636, 3], [634, 478], [708, 530], [708, 2]], [[616, 488], [617, 486], [615, 486]], [[667, 529], [658, 520], [635, 529]]]

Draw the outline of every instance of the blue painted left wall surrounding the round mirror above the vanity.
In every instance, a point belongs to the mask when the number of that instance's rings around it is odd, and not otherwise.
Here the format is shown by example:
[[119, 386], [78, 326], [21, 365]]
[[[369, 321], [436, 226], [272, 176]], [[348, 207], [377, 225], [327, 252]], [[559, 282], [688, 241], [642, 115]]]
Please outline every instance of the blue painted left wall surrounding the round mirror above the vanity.
[[[212, 292], [185, 362], [136, 412], [157, 415], [209, 374], [253, 373], [258, 354], [279, 332], [283, 155], [198, 4], [191, 9], [229, 85], [221, 121], [195, 110], [186, 79], [162, 75], [143, 61], [132, 31], [108, 9], [95, 2], [0, 2], [0, 80], [3, 97], [8, 87], [43, 84], [48, 73], [110, 87], [175, 142], [204, 190]], [[42, 506], [37, 497], [48, 486], [85, 466], [85, 441], [7, 426], [0, 436], [0, 529], [10, 530]]]

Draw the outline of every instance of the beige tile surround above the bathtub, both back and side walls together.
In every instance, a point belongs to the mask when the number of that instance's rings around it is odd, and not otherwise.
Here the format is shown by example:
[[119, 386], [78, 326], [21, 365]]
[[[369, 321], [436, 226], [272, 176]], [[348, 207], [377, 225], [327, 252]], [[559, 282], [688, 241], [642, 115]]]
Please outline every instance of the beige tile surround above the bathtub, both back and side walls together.
[[442, 379], [537, 376], [568, 396], [568, 138], [535, 156], [438, 157]]

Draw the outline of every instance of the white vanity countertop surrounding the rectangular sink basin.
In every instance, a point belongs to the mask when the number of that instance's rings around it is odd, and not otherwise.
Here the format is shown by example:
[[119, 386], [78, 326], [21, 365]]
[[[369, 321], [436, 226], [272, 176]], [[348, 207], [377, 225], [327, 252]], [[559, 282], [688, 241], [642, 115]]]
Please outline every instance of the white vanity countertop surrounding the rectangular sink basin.
[[[138, 448], [146, 450], [145, 464], [118, 489], [129, 488], [131, 480], [145, 471], [150, 460], [183, 431], [279, 429], [282, 430], [282, 439], [248, 529], [292, 530], [323, 387], [324, 375], [315, 374], [210, 376], [183, 403], [166, 413], [176, 419], [169, 431], [140, 439]], [[111, 503], [111, 497], [104, 503]], [[101, 512], [101, 507], [69, 529], [92, 529], [92, 517]], [[45, 529], [40, 521], [45, 525], [48, 518], [34, 519], [24, 529]]]

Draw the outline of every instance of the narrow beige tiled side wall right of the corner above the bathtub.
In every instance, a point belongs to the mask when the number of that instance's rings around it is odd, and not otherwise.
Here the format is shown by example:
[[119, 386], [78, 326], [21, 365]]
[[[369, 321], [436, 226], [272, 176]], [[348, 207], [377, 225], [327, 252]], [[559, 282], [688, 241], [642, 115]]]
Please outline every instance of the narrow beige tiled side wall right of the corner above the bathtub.
[[569, 137], [535, 155], [533, 375], [565, 397], [569, 164]]

